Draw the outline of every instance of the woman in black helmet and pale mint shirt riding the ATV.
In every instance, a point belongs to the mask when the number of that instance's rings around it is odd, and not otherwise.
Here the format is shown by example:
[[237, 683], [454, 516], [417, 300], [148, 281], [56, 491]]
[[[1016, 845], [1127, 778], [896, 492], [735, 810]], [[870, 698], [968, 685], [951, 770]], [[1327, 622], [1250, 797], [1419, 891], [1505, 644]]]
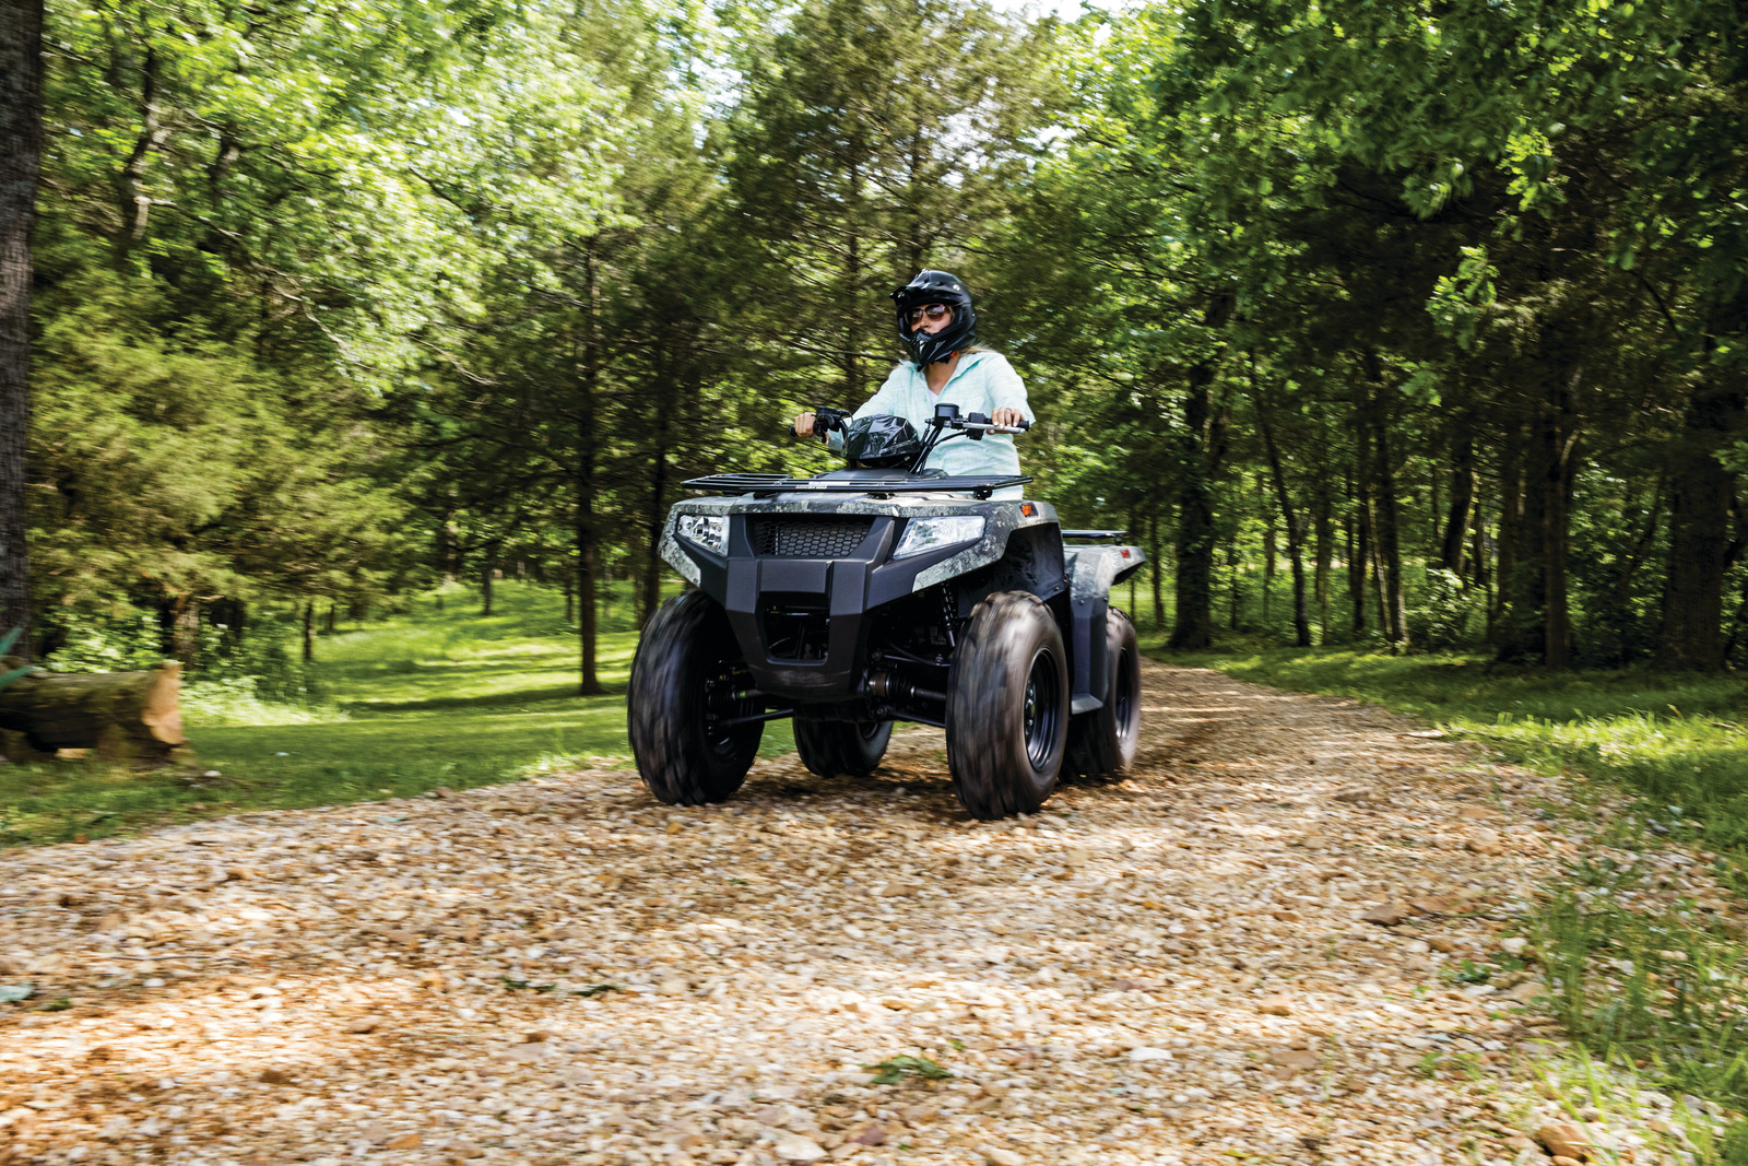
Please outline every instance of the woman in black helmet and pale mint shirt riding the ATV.
[[[898, 339], [911, 358], [891, 371], [879, 392], [857, 409], [855, 418], [890, 414], [904, 418], [921, 434], [937, 404], [954, 404], [960, 416], [981, 413], [995, 425], [1035, 420], [1026, 404], [1026, 386], [1007, 357], [977, 346], [977, 313], [972, 294], [958, 276], [923, 271], [891, 294], [898, 304]], [[795, 418], [795, 434], [813, 434], [813, 413]], [[843, 437], [830, 434], [830, 446]], [[989, 434], [982, 441], [942, 442], [928, 458], [930, 470], [960, 474], [1019, 474], [1014, 439]], [[1019, 496], [1019, 489], [1012, 491]]]

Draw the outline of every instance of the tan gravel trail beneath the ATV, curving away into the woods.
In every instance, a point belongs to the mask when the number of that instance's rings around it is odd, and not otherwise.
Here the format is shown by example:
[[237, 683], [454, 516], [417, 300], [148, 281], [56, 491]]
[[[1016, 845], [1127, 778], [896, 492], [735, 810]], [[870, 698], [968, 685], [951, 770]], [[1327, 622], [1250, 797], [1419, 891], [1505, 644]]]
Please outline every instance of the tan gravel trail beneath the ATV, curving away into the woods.
[[0, 1161], [1512, 1161], [1533, 984], [1440, 968], [1571, 846], [1550, 788], [1351, 701], [1145, 696], [1136, 776], [1023, 822], [916, 729], [706, 809], [591, 771], [3, 853]]

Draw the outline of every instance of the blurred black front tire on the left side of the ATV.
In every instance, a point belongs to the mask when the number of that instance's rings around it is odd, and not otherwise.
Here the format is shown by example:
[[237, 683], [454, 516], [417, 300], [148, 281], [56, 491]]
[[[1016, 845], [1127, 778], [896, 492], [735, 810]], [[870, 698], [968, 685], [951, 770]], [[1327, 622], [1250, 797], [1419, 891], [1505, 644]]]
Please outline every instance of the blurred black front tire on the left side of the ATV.
[[759, 711], [734, 699], [752, 687], [722, 605], [703, 591], [662, 603], [638, 640], [626, 692], [631, 753], [656, 801], [703, 806], [734, 797], [759, 753], [764, 724], [711, 722]]

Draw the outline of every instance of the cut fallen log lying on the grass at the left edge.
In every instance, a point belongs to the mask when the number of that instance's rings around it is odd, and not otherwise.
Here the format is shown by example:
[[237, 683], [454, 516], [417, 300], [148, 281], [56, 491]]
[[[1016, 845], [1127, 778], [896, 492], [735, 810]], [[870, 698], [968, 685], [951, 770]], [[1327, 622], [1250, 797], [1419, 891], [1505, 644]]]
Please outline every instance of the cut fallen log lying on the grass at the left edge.
[[[0, 663], [0, 671], [16, 666]], [[182, 664], [149, 671], [33, 671], [0, 689], [0, 753], [10, 760], [93, 750], [100, 760], [164, 764], [191, 755], [182, 732]]]

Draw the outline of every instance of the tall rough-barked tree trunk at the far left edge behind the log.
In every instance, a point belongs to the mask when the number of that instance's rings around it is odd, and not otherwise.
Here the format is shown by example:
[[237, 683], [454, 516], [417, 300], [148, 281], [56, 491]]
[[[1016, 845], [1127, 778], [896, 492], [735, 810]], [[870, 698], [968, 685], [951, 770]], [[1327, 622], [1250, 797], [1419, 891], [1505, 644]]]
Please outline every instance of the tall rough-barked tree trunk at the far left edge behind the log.
[[0, 9], [0, 635], [30, 659], [24, 451], [30, 442], [30, 231], [42, 166], [42, 2]]

